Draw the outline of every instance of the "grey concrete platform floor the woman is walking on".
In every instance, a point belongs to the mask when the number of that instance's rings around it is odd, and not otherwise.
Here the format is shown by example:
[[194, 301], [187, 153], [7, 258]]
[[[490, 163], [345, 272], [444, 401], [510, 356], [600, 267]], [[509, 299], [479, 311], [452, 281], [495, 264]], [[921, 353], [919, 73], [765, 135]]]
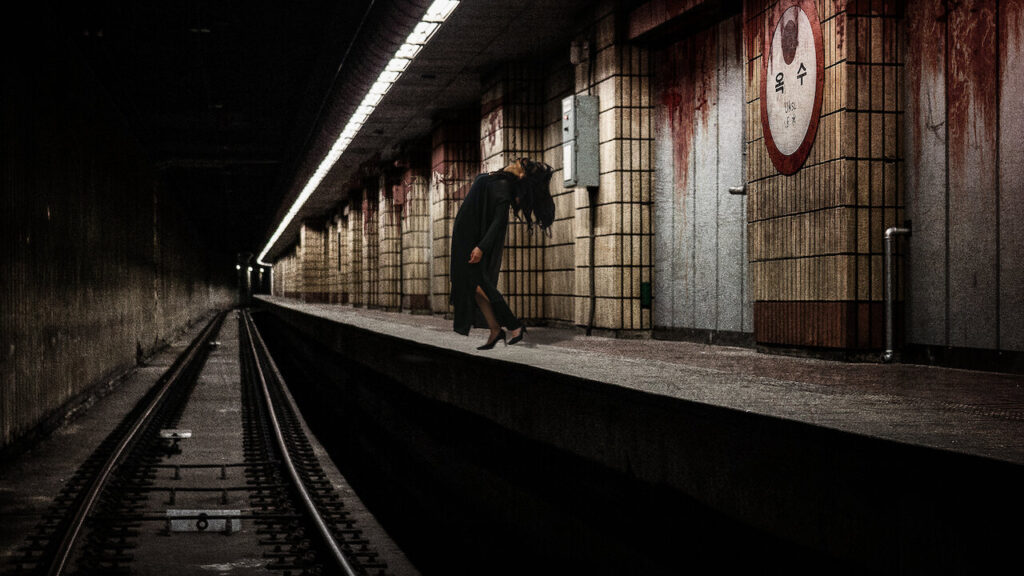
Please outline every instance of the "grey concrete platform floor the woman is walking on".
[[1024, 463], [1024, 376], [909, 364], [766, 355], [743, 347], [584, 336], [529, 328], [515, 346], [478, 352], [439, 316], [348, 305], [268, 302], [469, 355], [489, 355], [642, 392], [839, 430]]

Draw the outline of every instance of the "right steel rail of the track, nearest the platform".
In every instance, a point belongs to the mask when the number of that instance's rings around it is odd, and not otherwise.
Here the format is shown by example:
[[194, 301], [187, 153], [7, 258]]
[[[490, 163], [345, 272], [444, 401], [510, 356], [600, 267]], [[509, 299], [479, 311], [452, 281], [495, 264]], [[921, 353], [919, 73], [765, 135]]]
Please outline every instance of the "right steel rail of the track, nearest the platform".
[[[273, 401], [270, 397], [270, 388], [267, 386], [266, 376], [263, 374], [263, 366], [259, 361], [260, 351], [256, 347], [257, 340], [259, 341], [260, 348], [263, 352], [263, 358], [266, 359], [269, 368], [273, 370], [274, 376], [278, 378], [278, 382], [284, 382], [284, 378], [281, 376], [281, 372], [278, 371], [278, 367], [274, 364], [273, 359], [270, 358], [270, 351], [266, 347], [266, 342], [264, 342], [263, 337], [260, 336], [259, 330], [257, 330], [256, 326], [253, 324], [252, 316], [249, 314], [249, 311], [244, 311], [243, 315], [245, 317], [246, 333], [249, 336], [249, 346], [252, 348], [253, 360], [256, 365], [256, 375], [259, 377], [260, 387], [263, 392], [263, 399], [266, 401], [267, 414], [270, 417], [270, 423], [273, 427], [273, 436], [278, 442], [278, 447], [281, 449], [281, 455], [284, 459], [285, 467], [288, 469], [288, 474], [292, 478], [292, 482], [295, 484], [296, 490], [299, 492], [302, 504], [306, 508], [306, 512], [309, 515], [309, 518], [312, 519], [313, 523], [316, 525], [321, 538], [330, 550], [335, 564], [337, 564], [338, 568], [340, 568], [346, 576], [356, 576], [351, 564], [349, 564], [344, 552], [341, 550], [341, 546], [338, 545], [338, 540], [334, 537], [334, 534], [331, 533], [331, 529], [328, 527], [327, 522], [324, 521], [324, 517], [316, 508], [316, 504], [309, 495], [309, 491], [306, 490], [306, 486], [302, 482], [302, 478], [299, 476], [299, 471], [295, 467], [295, 463], [292, 461], [292, 456], [289, 453], [285, 436], [281, 431], [281, 422], [278, 419], [278, 413], [273, 408]], [[291, 399], [287, 398], [287, 395], [283, 396], [285, 396], [286, 402], [290, 404], [292, 403]], [[298, 413], [298, 407], [293, 405], [291, 408]]]

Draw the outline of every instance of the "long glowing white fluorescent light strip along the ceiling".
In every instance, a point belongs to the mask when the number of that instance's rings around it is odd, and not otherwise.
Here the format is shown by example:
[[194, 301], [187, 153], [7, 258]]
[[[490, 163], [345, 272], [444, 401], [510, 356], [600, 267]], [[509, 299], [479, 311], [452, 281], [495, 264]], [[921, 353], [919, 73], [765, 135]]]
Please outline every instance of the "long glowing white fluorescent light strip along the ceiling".
[[319, 166], [316, 167], [316, 171], [313, 175], [309, 177], [306, 181], [306, 186], [302, 187], [302, 192], [299, 197], [295, 199], [292, 207], [288, 209], [288, 213], [285, 214], [284, 219], [278, 224], [278, 229], [273, 232], [273, 236], [263, 247], [263, 251], [260, 252], [259, 257], [256, 261], [262, 265], [271, 265], [269, 262], [264, 262], [263, 258], [266, 257], [267, 252], [270, 248], [278, 243], [281, 239], [281, 235], [285, 234], [285, 229], [288, 228], [295, 216], [302, 209], [302, 206], [309, 200], [316, 188], [319, 187], [324, 178], [327, 177], [328, 172], [334, 167], [334, 164], [341, 158], [341, 155], [348, 148], [348, 145], [352, 142], [352, 138], [355, 134], [359, 132], [362, 125], [373, 114], [374, 109], [380, 105], [384, 95], [388, 93], [391, 86], [398, 81], [406, 69], [409, 68], [410, 63], [413, 58], [420, 53], [420, 49], [430, 41], [440, 28], [441, 24], [447, 19], [455, 8], [459, 5], [459, 0], [435, 0], [433, 4], [427, 8], [427, 12], [423, 14], [420, 23], [416, 25], [416, 28], [412, 33], [406, 38], [406, 43], [398, 47], [394, 53], [394, 57], [388, 63], [387, 67], [381, 72], [380, 76], [377, 77], [377, 81], [374, 82], [373, 86], [367, 92], [367, 95], [362, 98], [359, 107], [355, 110], [352, 116], [348, 119], [348, 123], [345, 128], [338, 135], [338, 139], [335, 140], [334, 145], [331, 146], [331, 150], [327, 153], [327, 156], [321, 160]]

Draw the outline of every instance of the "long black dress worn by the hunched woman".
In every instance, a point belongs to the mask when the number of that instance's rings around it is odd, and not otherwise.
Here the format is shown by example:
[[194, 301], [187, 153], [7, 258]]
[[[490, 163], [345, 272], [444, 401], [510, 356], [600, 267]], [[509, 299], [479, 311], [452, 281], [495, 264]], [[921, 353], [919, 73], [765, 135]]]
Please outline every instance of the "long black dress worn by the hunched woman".
[[[496, 312], [508, 307], [498, 291], [498, 273], [502, 268], [515, 179], [508, 172], [480, 174], [456, 214], [452, 230], [451, 301], [455, 308], [455, 331], [460, 334], [469, 334], [474, 325], [486, 326], [476, 306], [477, 286], [483, 289]], [[476, 247], [483, 252], [483, 258], [471, 264], [469, 257]]]

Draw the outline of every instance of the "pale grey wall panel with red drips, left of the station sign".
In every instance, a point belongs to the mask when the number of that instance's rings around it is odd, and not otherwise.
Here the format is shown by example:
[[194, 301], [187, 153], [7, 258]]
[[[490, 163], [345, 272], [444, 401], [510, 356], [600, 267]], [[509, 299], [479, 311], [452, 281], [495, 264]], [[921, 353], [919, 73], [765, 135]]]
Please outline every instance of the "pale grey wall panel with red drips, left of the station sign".
[[742, 18], [655, 52], [654, 327], [754, 330]]

